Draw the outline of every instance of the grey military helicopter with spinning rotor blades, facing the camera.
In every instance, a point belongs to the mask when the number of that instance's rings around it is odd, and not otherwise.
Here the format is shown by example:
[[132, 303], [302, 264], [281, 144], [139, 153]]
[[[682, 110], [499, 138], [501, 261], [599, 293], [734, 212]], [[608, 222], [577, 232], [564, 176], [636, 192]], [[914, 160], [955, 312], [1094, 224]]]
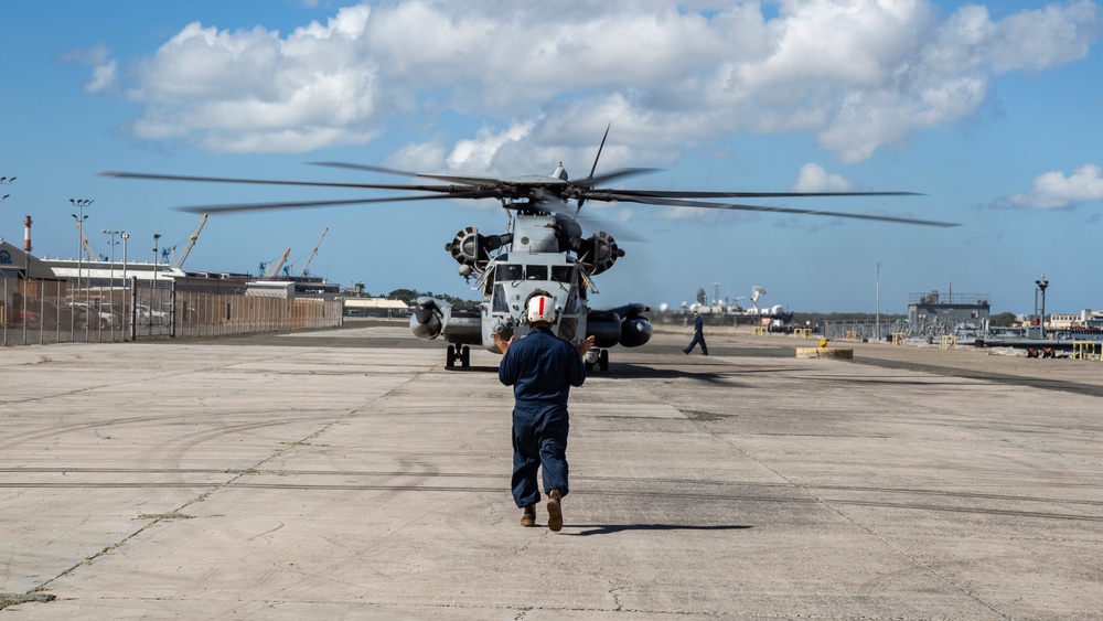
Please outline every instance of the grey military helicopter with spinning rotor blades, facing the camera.
[[593, 277], [608, 271], [624, 256], [624, 250], [609, 233], [596, 231], [586, 235], [579, 224], [579, 212], [589, 201], [640, 203], [679, 207], [706, 207], [772, 213], [810, 214], [860, 220], [898, 222], [925, 226], [956, 226], [952, 223], [849, 214], [779, 206], [706, 202], [703, 199], [767, 199], [806, 196], [904, 196], [913, 192], [684, 192], [623, 190], [603, 185], [653, 169], [627, 168], [596, 175], [598, 161], [609, 137], [601, 139], [590, 174], [570, 181], [563, 163], [550, 175], [524, 175], [513, 179], [427, 174], [343, 162], [315, 162], [320, 165], [361, 170], [375, 173], [401, 174], [433, 180], [431, 184], [332, 183], [309, 181], [228, 179], [183, 176], [128, 172], [101, 172], [103, 176], [168, 181], [224, 183], [261, 183], [277, 185], [357, 188], [399, 190], [413, 195], [310, 201], [251, 203], [201, 207], [178, 207], [192, 213], [267, 211], [296, 207], [351, 205], [439, 199], [494, 199], [507, 214], [505, 232], [485, 235], [468, 226], [445, 245], [465, 280], [474, 278], [473, 289], [481, 290], [483, 301], [474, 308], [450, 304], [436, 298], [419, 298], [410, 317], [410, 330], [419, 339], [442, 336], [448, 343], [445, 365], [452, 368], [471, 364], [471, 345], [499, 352], [494, 333], [508, 340], [528, 333], [524, 309], [529, 298], [547, 293], [555, 299], [557, 334], [572, 343], [595, 336], [595, 346], [587, 353], [587, 368], [609, 368], [609, 349], [614, 345], [639, 347], [651, 339], [653, 325], [643, 314], [650, 308], [631, 302], [613, 309], [590, 308], [589, 295], [596, 293]]

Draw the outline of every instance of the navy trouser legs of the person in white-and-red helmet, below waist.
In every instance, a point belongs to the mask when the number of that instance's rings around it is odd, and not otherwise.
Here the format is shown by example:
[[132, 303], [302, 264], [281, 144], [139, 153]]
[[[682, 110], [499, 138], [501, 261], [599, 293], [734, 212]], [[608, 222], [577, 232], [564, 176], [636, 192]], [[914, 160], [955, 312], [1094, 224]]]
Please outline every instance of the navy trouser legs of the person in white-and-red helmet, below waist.
[[513, 409], [513, 500], [525, 507], [540, 500], [536, 471], [543, 465], [544, 492], [567, 495], [567, 408], [526, 406]]

